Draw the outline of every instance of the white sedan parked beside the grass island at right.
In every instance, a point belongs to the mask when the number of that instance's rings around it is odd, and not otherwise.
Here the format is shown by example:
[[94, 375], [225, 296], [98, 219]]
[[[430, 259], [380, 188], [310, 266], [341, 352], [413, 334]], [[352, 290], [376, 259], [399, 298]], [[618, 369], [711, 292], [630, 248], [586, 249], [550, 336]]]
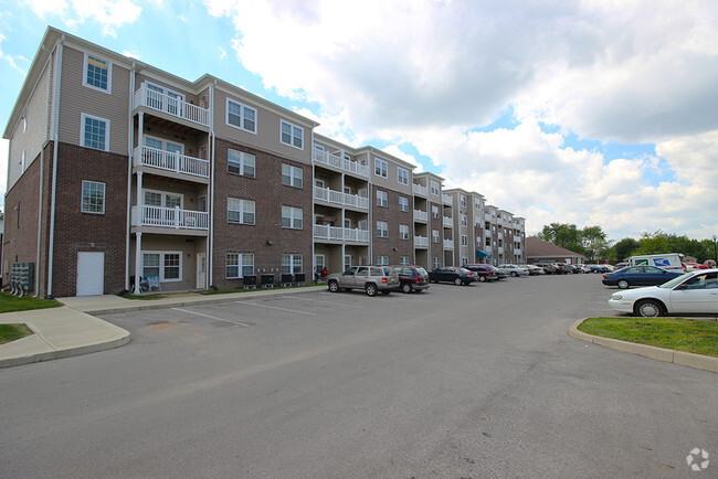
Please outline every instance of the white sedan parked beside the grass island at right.
[[718, 269], [686, 273], [661, 286], [614, 292], [614, 311], [654, 318], [664, 315], [718, 316]]

